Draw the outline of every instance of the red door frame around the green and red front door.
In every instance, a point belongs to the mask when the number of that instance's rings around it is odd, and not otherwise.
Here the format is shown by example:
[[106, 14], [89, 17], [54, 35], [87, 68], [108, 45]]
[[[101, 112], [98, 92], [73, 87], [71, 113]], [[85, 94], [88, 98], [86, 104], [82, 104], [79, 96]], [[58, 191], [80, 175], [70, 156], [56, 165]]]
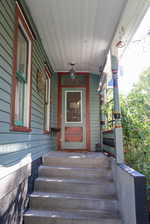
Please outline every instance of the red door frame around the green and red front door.
[[[76, 75], [86, 75], [87, 82], [86, 85], [72, 86], [72, 85], [61, 85], [61, 77], [68, 75], [68, 72], [58, 72], [58, 112], [57, 112], [57, 126], [60, 128], [58, 133], [58, 151], [67, 152], [89, 152], [91, 151], [91, 135], [90, 135], [90, 74], [85, 72], [78, 72]], [[62, 88], [70, 88], [73, 90], [75, 88], [85, 88], [86, 90], [86, 149], [62, 149], [61, 148], [61, 118], [62, 118]]]

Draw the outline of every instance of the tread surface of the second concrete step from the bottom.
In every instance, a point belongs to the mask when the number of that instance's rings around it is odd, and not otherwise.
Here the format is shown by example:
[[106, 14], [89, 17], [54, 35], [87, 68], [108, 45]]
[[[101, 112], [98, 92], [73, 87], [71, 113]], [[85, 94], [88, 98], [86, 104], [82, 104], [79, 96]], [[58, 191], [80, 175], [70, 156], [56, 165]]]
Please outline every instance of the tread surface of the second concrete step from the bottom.
[[83, 199], [83, 200], [108, 200], [108, 202], [111, 200], [117, 201], [116, 196], [114, 195], [102, 195], [100, 197], [98, 196], [90, 196], [86, 194], [71, 194], [71, 193], [49, 193], [49, 192], [33, 192], [30, 194], [30, 197], [36, 198], [36, 197], [45, 197], [45, 198], [65, 198], [65, 199]]

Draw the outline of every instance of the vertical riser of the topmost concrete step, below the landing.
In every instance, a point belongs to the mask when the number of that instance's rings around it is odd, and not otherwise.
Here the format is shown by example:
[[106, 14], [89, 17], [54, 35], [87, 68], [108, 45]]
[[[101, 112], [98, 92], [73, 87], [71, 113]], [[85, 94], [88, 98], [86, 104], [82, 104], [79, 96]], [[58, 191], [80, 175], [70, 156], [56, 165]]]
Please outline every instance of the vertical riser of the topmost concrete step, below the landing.
[[45, 166], [63, 166], [63, 167], [85, 167], [85, 168], [110, 168], [108, 158], [51, 158], [44, 157], [43, 165]]

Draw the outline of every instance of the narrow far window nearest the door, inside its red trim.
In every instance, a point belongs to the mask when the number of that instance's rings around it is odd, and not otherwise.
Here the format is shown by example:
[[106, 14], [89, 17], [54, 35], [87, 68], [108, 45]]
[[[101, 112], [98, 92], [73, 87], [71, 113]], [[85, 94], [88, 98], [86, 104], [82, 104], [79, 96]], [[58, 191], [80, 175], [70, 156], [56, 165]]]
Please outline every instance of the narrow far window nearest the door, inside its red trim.
[[50, 132], [51, 74], [45, 69], [44, 132]]

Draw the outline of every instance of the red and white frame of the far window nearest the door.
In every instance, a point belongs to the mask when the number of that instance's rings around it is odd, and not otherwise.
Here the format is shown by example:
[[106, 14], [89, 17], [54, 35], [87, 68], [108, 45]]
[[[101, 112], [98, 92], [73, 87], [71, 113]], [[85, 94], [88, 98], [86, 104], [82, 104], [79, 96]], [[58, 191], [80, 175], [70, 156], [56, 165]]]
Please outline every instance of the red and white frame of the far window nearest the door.
[[[44, 72], [45, 72], [45, 76], [49, 79], [49, 97], [47, 96], [47, 93], [46, 93], [46, 88], [45, 88], [45, 96], [44, 96], [44, 125], [43, 125], [43, 129], [44, 129], [44, 134], [50, 134], [51, 132], [51, 105], [52, 105], [52, 75], [48, 69], [47, 66], [45, 66], [45, 69], [44, 69]], [[45, 128], [45, 98], [48, 97], [49, 99], [49, 127], [48, 129]]]

